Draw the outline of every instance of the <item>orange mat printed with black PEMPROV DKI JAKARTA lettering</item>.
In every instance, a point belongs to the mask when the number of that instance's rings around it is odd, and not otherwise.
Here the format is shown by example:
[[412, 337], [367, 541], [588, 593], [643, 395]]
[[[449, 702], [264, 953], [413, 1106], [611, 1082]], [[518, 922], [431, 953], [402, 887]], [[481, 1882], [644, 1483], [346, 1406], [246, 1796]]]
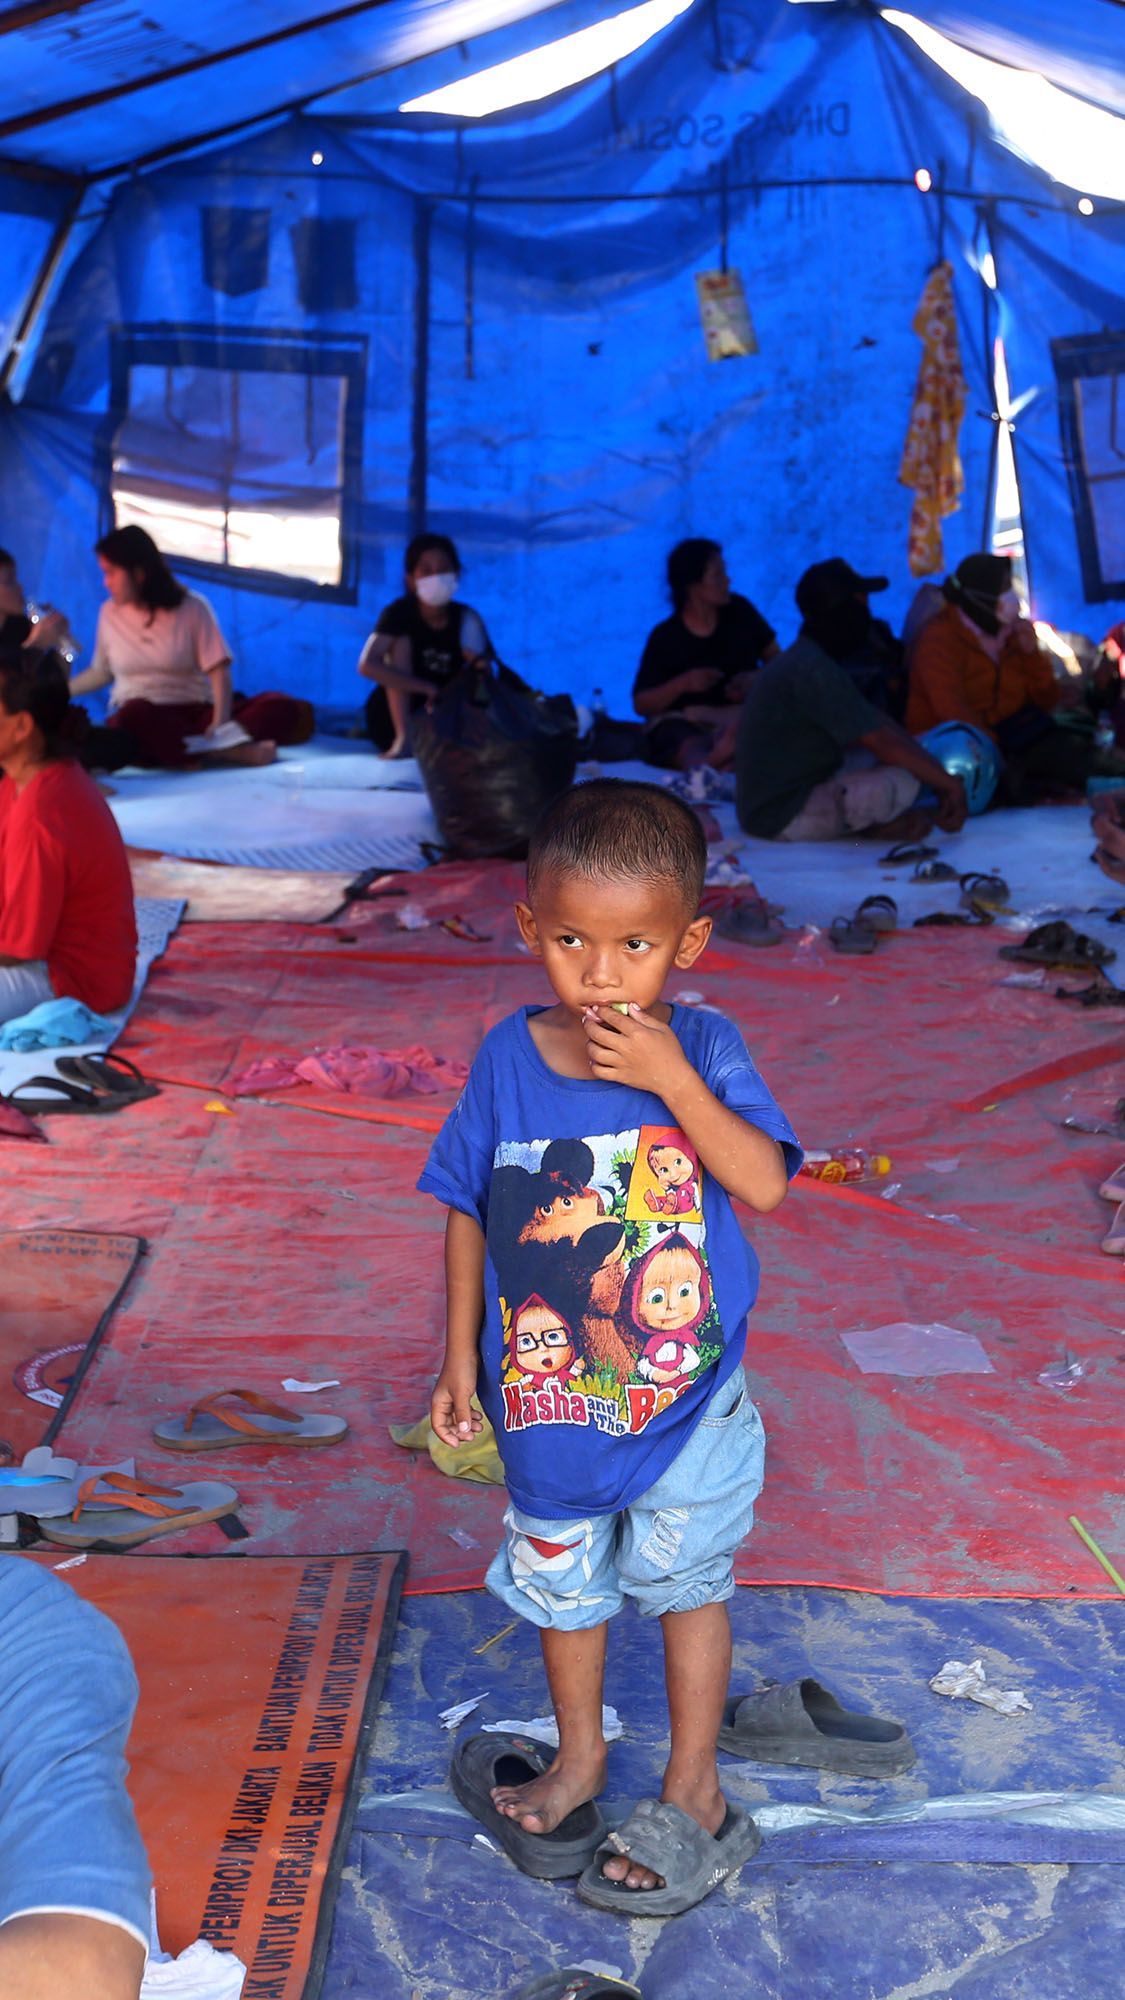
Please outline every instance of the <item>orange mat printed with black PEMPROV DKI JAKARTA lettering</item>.
[[120, 1626], [136, 1666], [128, 1782], [160, 1942], [234, 1950], [246, 1996], [320, 1990], [404, 1566], [396, 1550], [90, 1556], [66, 1576]]

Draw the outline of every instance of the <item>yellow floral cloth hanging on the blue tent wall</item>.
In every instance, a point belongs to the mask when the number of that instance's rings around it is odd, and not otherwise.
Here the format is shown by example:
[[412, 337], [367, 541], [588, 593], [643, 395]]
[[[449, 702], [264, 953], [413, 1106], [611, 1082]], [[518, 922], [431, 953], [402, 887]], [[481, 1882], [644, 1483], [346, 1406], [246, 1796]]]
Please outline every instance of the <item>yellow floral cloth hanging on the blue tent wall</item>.
[[957, 450], [965, 416], [965, 376], [953, 304], [953, 264], [935, 264], [931, 270], [913, 328], [923, 342], [923, 360], [899, 480], [915, 490], [911, 576], [931, 576], [945, 568], [941, 522], [957, 512], [965, 490]]

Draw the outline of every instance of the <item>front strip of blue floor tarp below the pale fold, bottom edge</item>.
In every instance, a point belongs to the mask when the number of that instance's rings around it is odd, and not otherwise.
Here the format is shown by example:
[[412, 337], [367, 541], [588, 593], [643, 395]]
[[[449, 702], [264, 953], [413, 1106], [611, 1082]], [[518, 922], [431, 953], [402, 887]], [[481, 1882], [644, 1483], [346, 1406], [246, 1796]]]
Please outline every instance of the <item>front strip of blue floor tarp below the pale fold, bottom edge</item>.
[[440, 1842], [360, 1834], [320, 2000], [506, 2000], [552, 1966], [639, 1982], [645, 2000], [1107, 2000], [1121, 1990], [1121, 1868], [751, 1862], [665, 1924]]

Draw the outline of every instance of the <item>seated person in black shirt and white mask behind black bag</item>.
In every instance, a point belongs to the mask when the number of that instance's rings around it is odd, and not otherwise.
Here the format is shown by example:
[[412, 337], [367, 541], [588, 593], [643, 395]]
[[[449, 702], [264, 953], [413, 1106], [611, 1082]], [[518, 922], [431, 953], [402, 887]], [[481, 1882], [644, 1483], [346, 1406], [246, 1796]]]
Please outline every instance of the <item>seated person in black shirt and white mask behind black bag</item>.
[[448, 534], [416, 534], [406, 550], [406, 590], [374, 620], [360, 674], [378, 686], [364, 726], [380, 756], [410, 756], [410, 716], [462, 666], [492, 656], [484, 620], [456, 596], [460, 558]]

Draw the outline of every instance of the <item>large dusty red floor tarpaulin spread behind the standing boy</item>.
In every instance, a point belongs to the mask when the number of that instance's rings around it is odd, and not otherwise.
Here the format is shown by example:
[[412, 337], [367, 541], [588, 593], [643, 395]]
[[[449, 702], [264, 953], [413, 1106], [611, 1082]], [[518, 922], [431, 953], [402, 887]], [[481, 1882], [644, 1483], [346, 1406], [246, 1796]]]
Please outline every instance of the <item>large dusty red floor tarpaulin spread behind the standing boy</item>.
[[[492, 934], [480, 944], [408, 936], [390, 906], [314, 934], [180, 932], [126, 1046], [194, 1088], [170, 1086], [96, 1136], [56, 1120], [50, 1152], [22, 1154], [20, 1220], [142, 1228], [156, 1244], [68, 1448], [134, 1450], [168, 1474], [146, 1444], [168, 1408], [232, 1382], [276, 1394], [282, 1376], [340, 1378], [306, 1404], [348, 1418], [340, 1448], [208, 1456], [242, 1494], [250, 1552], [392, 1540], [410, 1548], [412, 1588], [474, 1582], [486, 1564], [502, 1496], [442, 1478], [386, 1430], [422, 1414], [440, 1354], [442, 1216], [412, 1190], [448, 1094], [258, 1104], [220, 1086], [254, 1056], [332, 1042], [470, 1056], [514, 1004], [546, 998], [510, 948], [498, 898], [512, 882], [410, 880], [412, 900], [470, 910]], [[917, 932], [867, 960], [797, 940], [721, 944], [691, 974], [745, 1030], [805, 1142], [885, 1150], [897, 1188], [883, 1200], [803, 1186], [747, 1224], [763, 1258], [749, 1360], [771, 1438], [747, 1578], [1109, 1594], [1065, 1516], [1121, 1556], [1125, 1294], [1097, 1252], [1109, 1210], [1095, 1192], [1121, 1148], [1065, 1132], [1061, 1116], [1075, 1092], [1113, 1094], [1123, 1022], [1003, 986], [1001, 940]], [[891, 1320], [979, 1334], [995, 1374], [861, 1376], [839, 1336]], [[1087, 1364], [1071, 1394], [1037, 1380], [1063, 1352]], [[176, 1546], [212, 1550], [216, 1530]]]

